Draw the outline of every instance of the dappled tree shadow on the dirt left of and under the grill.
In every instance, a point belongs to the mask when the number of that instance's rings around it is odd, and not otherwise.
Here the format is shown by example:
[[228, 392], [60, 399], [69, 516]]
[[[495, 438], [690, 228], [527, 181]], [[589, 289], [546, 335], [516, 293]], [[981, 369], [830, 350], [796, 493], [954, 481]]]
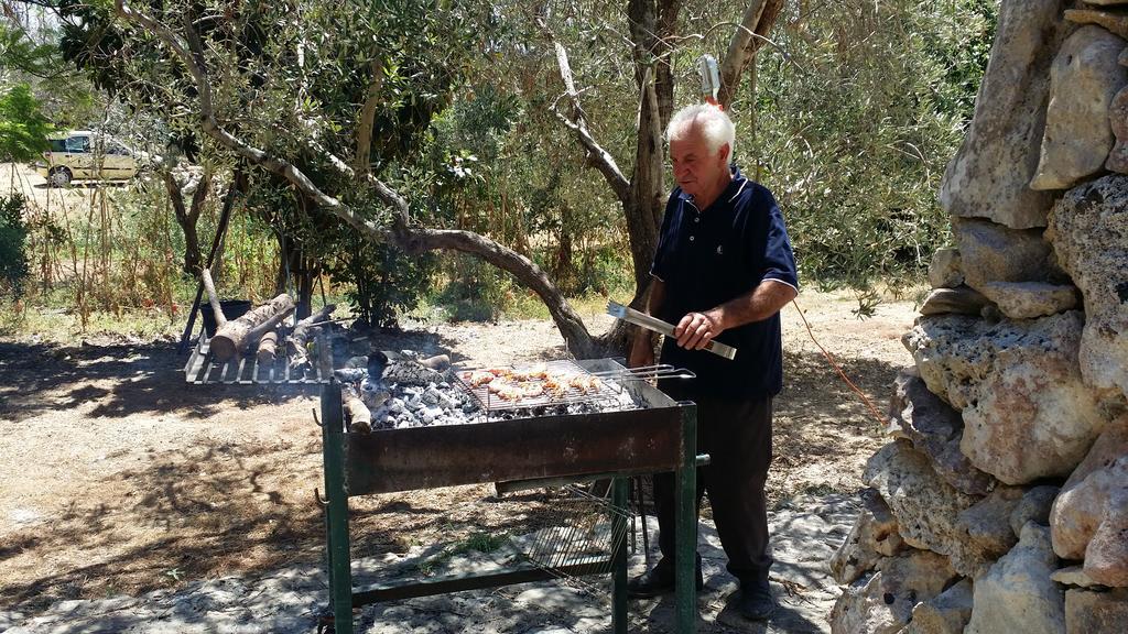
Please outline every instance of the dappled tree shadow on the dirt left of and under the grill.
[[[9, 532], [0, 567], [14, 574], [0, 575], [8, 576], [0, 580], [0, 602], [34, 613], [63, 599], [139, 596], [227, 574], [320, 565], [319, 442], [306, 450], [317, 456], [310, 460], [317, 468], [280, 477], [277, 447], [203, 438], [105, 476], [122, 481], [127, 493], [74, 500], [58, 516]], [[418, 547], [441, 553], [475, 534], [535, 530], [529, 527], [545, 504], [501, 500], [492, 486], [475, 485], [353, 497], [350, 507], [355, 560]], [[12, 582], [17, 575], [24, 581]]]

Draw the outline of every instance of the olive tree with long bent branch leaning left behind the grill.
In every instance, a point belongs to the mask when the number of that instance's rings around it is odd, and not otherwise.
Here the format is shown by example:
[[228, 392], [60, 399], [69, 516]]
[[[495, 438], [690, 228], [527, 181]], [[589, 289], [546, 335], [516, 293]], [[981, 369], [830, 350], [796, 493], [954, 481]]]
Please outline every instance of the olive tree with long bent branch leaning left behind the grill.
[[[722, 61], [722, 104], [734, 87], [782, 7], [782, 0], [752, 0]], [[645, 300], [646, 274], [656, 245], [664, 201], [662, 131], [673, 105], [672, 52], [680, 36], [680, 0], [631, 0], [626, 6], [636, 99], [623, 116], [637, 122], [634, 169], [620, 162], [592, 133], [582, 107], [583, 88], [572, 80], [567, 47], [556, 36], [553, 3], [536, 8], [535, 21], [550, 46], [561, 78], [562, 131], [575, 139], [618, 200], [629, 235], [636, 291]], [[121, 50], [152, 55], [144, 71], [166, 82], [155, 90], [191, 95], [168, 113], [205, 134], [249, 166], [283, 179], [318, 212], [335, 217], [365, 239], [408, 254], [437, 249], [481, 257], [534, 291], [576, 356], [622, 345], [623, 331], [592, 335], [553, 280], [527, 256], [490, 237], [431, 226], [425, 205], [415, 203], [409, 177], [391, 169], [385, 152], [372, 148], [384, 133], [409, 121], [382, 120], [403, 113], [403, 99], [435, 99], [411, 87], [435, 79], [457, 81], [473, 55], [499, 47], [491, 28], [506, 8], [485, 2], [395, 2], [352, 5], [315, 1], [165, 2], [134, 6], [116, 0], [123, 20]], [[514, 8], [509, 8], [517, 10]], [[412, 51], [413, 42], [422, 42]], [[469, 45], [469, 46], [467, 46]], [[387, 55], [397, 51], [398, 55]], [[417, 60], [429, 63], [417, 68]], [[416, 61], [408, 74], [404, 65]], [[138, 78], [144, 78], [136, 73]], [[358, 91], [362, 95], [356, 98]], [[422, 104], [422, 117], [430, 111]], [[408, 112], [420, 112], [408, 111]], [[422, 130], [423, 126], [417, 126]], [[403, 153], [411, 151], [411, 138]]]

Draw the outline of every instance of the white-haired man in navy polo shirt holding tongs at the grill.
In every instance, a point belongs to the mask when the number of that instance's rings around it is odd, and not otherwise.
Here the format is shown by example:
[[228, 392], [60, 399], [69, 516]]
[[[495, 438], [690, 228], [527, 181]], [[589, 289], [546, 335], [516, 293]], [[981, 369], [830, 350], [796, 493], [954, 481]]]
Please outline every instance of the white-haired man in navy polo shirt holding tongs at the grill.
[[[741, 585], [737, 607], [765, 619], [776, 602], [768, 584], [764, 485], [772, 461], [772, 398], [783, 387], [779, 309], [799, 279], [783, 215], [772, 193], [730, 166], [735, 131], [720, 108], [679, 111], [667, 129], [673, 177], [651, 268], [650, 312], [677, 324], [661, 361], [697, 378], [664, 388], [697, 404], [697, 448], [712, 457], [698, 470], [698, 504], [708, 492], [728, 569]], [[654, 360], [654, 341], [638, 331], [629, 364]], [[716, 340], [737, 349], [728, 360], [703, 350]], [[633, 597], [673, 589], [673, 474], [654, 476], [662, 560], [628, 584]], [[702, 585], [698, 563], [698, 588]]]

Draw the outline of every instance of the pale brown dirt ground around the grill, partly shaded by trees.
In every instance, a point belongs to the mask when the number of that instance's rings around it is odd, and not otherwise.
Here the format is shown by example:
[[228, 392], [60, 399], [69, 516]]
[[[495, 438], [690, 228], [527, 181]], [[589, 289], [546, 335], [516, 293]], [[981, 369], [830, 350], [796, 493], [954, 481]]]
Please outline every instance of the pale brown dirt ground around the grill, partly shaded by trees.
[[[910, 300], [858, 320], [847, 293], [804, 292], [814, 336], [884, 413]], [[587, 316], [592, 329], [609, 318]], [[776, 400], [773, 502], [853, 492], [883, 442], [880, 422], [829, 367], [794, 306], [784, 311], [787, 386]], [[547, 322], [423, 327], [378, 342], [495, 364], [559, 358]], [[80, 345], [0, 340], [0, 606], [135, 595], [321, 557], [315, 393], [186, 385], [169, 342]], [[440, 536], [513, 530], [530, 500], [470, 486], [353, 499], [358, 554]], [[532, 509], [532, 510], [530, 510]], [[484, 511], [484, 512], [483, 512]]]

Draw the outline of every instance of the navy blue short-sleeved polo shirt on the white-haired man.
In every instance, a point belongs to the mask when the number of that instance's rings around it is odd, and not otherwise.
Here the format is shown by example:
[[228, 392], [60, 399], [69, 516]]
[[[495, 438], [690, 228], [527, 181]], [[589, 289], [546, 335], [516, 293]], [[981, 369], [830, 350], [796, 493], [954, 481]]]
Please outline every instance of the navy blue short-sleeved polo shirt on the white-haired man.
[[[783, 214], [772, 192], [741, 176], [706, 210], [680, 187], [670, 194], [651, 274], [666, 284], [655, 317], [677, 324], [748, 293], [765, 280], [799, 288], [795, 257]], [[783, 388], [779, 315], [730, 328], [716, 341], [737, 349], [728, 360], [685, 350], [666, 337], [662, 362], [697, 375], [691, 391], [725, 398], [763, 398]]]

